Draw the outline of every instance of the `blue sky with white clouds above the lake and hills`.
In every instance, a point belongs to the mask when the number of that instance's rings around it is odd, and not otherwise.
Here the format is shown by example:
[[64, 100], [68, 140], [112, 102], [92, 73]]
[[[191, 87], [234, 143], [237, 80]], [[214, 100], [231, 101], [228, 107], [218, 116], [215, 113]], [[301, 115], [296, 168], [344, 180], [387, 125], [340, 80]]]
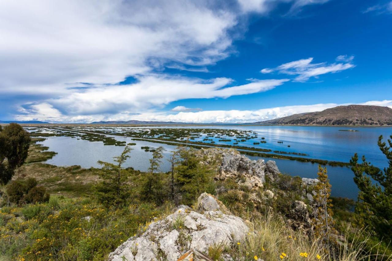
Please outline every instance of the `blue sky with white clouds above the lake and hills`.
[[0, 0], [0, 120], [392, 108], [390, 0]]

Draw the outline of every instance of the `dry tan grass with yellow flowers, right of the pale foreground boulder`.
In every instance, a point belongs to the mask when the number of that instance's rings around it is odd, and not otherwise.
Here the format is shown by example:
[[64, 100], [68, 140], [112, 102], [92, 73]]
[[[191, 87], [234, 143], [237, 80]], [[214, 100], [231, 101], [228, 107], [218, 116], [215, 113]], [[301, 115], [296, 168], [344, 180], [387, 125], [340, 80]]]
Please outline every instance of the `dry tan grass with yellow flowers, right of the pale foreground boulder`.
[[[392, 260], [392, 256], [384, 252], [371, 254], [366, 250], [368, 237], [363, 239], [363, 230], [351, 231], [354, 236], [350, 239], [339, 237], [338, 243], [328, 248], [322, 240], [313, 238], [305, 230], [293, 230], [281, 216], [272, 213], [254, 219], [248, 225], [245, 239], [229, 251], [234, 259], [250, 261], [257, 256], [259, 260]], [[352, 227], [348, 226], [346, 233], [348, 230]]]

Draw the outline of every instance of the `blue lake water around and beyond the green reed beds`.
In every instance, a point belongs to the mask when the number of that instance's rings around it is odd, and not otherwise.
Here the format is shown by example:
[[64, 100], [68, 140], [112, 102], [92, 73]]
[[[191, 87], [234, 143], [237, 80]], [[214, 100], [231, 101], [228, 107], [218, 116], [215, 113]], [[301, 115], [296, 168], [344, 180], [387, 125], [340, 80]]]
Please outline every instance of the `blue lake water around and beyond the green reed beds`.
[[[120, 127], [119, 129], [130, 129], [135, 127]], [[377, 139], [380, 135], [388, 138], [392, 134], [391, 127], [302, 127], [302, 126], [203, 126], [203, 127], [138, 127], [138, 128], [193, 128], [193, 129], [240, 129], [252, 130], [258, 134], [257, 140], [265, 137], [267, 143], [253, 145], [254, 140], [239, 143], [240, 146], [261, 147], [271, 150], [283, 150], [286, 152], [301, 152], [308, 154], [308, 158], [326, 159], [332, 161], [348, 162], [355, 152], [359, 156], [365, 155], [367, 160], [377, 167], [384, 167], [387, 159], [377, 147]], [[97, 127], [96, 129], [99, 129]], [[356, 132], [339, 131], [342, 129], [355, 129]], [[119, 141], [137, 143], [132, 146], [131, 158], [125, 167], [133, 167], [137, 170], [145, 171], [149, 165], [151, 152], [145, 152], [140, 147], [149, 146], [156, 148], [163, 146], [165, 150], [161, 170], [169, 170], [170, 151], [175, 146], [152, 143], [148, 141], [132, 141], [130, 137], [111, 136]], [[222, 136], [222, 138], [224, 138]], [[218, 140], [218, 139], [216, 139]], [[278, 143], [277, 141], [283, 141]], [[216, 143], [220, 143], [216, 141]], [[56, 156], [49, 159], [47, 163], [58, 166], [80, 165], [81, 167], [99, 167], [98, 160], [112, 161], [113, 156], [119, 155], [124, 147], [104, 146], [101, 141], [78, 140], [71, 137], [48, 137], [42, 144], [49, 147], [49, 150], [58, 152]], [[230, 144], [224, 143], [222, 144]], [[290, 145], [290, 147], [287, 147]], [[259, 157], [249, 156], [252, 159]], [[269, 158], [264, 158], [266, 161]], [[272, 159], [272, 158], [271, 158]], [[317, 164], [292, 161], [287, 159], [272, 159], [276, 161], [279, 170], [292, 176], [306, 178], [317, 177]], [[341, 196], [356, 199], [358, 188], [353, 181], [353, 174], [347, 167], [328, 168], [328, 176], [332, 185], [332, 196]]]

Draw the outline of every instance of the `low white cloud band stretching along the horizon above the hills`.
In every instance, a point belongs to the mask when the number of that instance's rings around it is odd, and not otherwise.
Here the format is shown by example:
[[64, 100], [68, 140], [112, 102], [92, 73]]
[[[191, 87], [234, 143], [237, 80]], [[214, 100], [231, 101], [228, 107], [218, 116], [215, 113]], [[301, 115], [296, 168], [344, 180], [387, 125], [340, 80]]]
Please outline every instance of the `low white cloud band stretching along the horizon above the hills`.
[[[200, 111], [200, 112], [179, 112], [177, 114], [172, 114], [169, 112], [157, 112], [157, 111], [147, 111], [141, 114], [136, 114], [129, 116], [127, 114], [111, 114], [109, 116], [105, 115], [85, 115], [85, 116], [59, 116], [52, 117], [53, 122], [93, 122], [101, 120], [145, 120], [145, 121], [176, 121], [176, 122], [194, 122], [194, 123], [251, 123], [256, 121], [265, 121], [275, 118], [280, 118], [284, 116], [289, 116], [292, 114], [303, 113], [303, 112], [314, 112], [323, 111], [328, 108], [349, 105], [349, 104], [359, 104], [359, 105], [377, 105], [377, 106], [388, 106], [392, 108], [392, 100], [383, 101], [367, 101], [364, 103], [319, 103], [312, 105], [294, 105], [294, 106], [283, 106], [266, 108], [259, 110], [229, 110], [229, 111]], [[29, 115], [21, 115], [17, 117], [17, 120], [46, 120], [47, 118], [42, 116], [42, 110]], [[47, 113], [47, 112], [46, 112]], [[56, 114], [56, 112], [53, 112]]]

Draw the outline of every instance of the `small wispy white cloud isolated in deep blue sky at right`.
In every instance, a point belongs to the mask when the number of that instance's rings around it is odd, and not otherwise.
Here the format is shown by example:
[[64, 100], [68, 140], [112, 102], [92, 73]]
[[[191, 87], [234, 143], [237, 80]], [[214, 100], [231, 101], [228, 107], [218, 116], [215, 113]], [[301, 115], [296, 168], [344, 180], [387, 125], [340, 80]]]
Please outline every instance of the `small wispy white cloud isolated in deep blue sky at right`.
[[283, 63], [276, 68], [264, 68], [260, 72], [271, 73], [278, 72], [296, 76], [295, 82], [306, 82], [310, 78], [318, 78], [319, 75], [327, 73], [336, 73], [355, 67], [352, 63], [354, 56], [339, 55], [336, 61], [341, 63], [312, 63], [313, 58], [301, 59], [289, 63]]

